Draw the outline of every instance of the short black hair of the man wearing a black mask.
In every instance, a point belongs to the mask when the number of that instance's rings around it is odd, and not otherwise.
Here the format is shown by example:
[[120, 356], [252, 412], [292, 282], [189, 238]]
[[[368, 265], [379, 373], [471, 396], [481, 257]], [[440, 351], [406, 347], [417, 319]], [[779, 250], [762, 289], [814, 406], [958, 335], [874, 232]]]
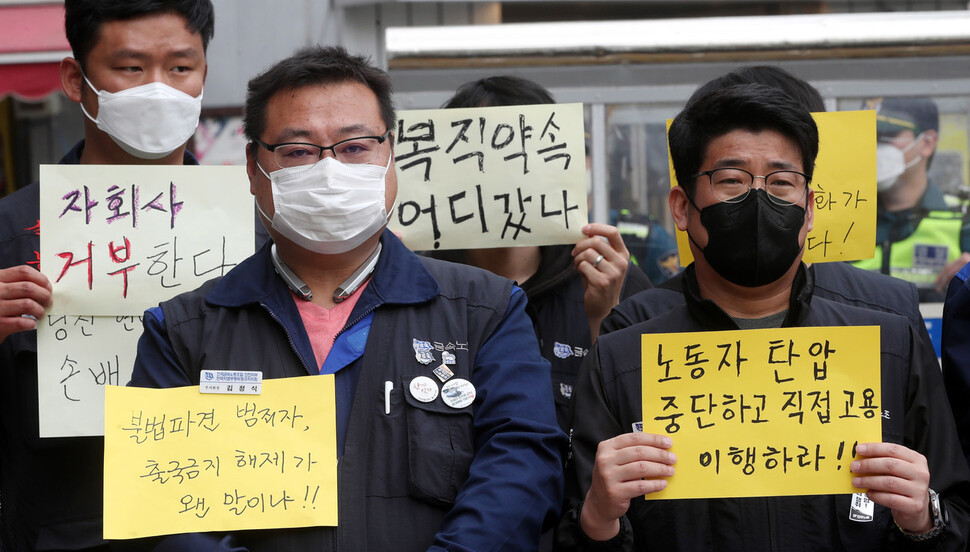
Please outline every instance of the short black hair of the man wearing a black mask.
[[818, 127], [804, 106], [785, 92], [762, 84], [715, 88], [692, 97], [670, 125], [667, 144], [677, 183], [693, 196], [695, 180], [710, 143], [729, 132], [774, 130], [792, 140], [809, 181], [818, 156]]

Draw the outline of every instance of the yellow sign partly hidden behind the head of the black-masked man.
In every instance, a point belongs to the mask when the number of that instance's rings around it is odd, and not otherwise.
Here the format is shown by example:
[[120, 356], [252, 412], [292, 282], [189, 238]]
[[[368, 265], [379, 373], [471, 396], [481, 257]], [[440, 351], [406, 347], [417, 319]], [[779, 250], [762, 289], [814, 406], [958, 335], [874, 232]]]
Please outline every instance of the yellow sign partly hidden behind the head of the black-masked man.
[[[805, 240], [803, 260], [871, 258], [876, 248], [876, 112], [832, 111], [812, 116], [819, 137], [811, 182], [815, 222]], [[672, 163], [669, 170], [675, 186]], [[677, 231], [677, 249], [681, 265], [694, 260], [686, 232]]]

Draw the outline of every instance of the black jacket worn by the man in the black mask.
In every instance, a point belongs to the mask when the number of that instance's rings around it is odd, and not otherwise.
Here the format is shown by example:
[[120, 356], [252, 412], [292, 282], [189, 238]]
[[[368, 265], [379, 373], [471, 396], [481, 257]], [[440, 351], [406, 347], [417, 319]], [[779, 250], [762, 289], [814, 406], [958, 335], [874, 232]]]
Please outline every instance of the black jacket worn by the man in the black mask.
[[940, 493], [949, 525], [935, 541], [913, 543], [875, 506], [869, 523], [849, 520], [852, 495], [658, 500], [634, 499], [619, 535], [596, 543], [578, 528], [597, 445], [629, 432], [642, 419], [640, 336], [645, 333], [738, 329], [714, 302], [700, 296], [692, 267], [683, 279], [685, 303], [647, 322], [600, 336], [584, 362], [575, 393], [572, 459], [561, 549], [579, 550], [965, 550], [970, 473], [960, 454], [953, 418], [931, 351], [907, 319], [813, 297], [804, 267], [793, 285], [783, 327], [878, 325], [881, 328], [883, 440], [927, 458], [930, 488]]

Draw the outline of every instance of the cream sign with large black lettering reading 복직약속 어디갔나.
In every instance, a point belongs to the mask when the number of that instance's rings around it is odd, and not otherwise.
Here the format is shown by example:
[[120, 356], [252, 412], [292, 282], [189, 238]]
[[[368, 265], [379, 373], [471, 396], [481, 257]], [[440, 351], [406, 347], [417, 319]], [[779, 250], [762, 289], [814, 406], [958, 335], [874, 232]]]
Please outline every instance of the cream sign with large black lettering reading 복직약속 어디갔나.
[[426, 109], [398, 117], [390, 228], [411, 249], [583, 238], [582, 104]]

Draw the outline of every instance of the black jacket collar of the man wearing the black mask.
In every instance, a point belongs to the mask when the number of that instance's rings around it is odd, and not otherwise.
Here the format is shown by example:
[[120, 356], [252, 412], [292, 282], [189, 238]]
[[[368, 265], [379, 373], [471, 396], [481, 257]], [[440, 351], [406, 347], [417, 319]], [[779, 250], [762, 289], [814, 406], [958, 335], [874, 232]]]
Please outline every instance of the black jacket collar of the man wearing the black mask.
[[[700, 286], [694, 263], [683, 271], [684, 299], [691, 317], [700, 322], [706, 330], [737, 330], [738, 325], [721, 307], [710, 299], [701, 297]], [[808, 308], [815, 292], [815, 271], [801, 263], [795, 280], [792, 282], [791, 296], [788, 300], [788, 314], [782, 327], [798, 326], [808, 316]]]

